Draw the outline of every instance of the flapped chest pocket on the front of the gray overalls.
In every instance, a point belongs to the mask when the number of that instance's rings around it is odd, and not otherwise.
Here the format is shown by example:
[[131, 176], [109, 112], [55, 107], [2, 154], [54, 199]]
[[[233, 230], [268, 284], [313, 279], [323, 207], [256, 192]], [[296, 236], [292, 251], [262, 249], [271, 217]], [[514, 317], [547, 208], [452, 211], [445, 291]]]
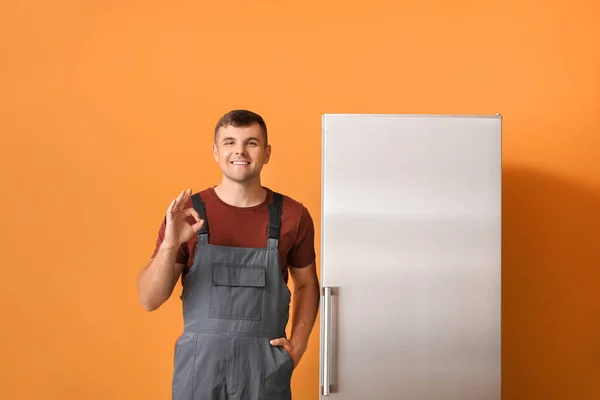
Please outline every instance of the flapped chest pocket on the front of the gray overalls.
[[215, 263], [211, 269], [209, 317], [260, 321], [266, 266]]

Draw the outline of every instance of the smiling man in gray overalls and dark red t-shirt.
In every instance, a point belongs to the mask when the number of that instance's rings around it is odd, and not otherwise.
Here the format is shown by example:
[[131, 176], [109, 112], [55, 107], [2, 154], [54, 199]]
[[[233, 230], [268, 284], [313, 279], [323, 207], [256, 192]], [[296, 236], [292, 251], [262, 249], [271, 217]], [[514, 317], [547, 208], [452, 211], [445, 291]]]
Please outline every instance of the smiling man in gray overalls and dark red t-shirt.
[[221, 182], [171, 201], [138, 277], [140, 303], [157, 309], [181, 276], [173, 400], [289, 400], [319, 305], [313, 221], [301, 203], [262, 186], [271, 146], [258, 114], [224, 115], [213, 154]]

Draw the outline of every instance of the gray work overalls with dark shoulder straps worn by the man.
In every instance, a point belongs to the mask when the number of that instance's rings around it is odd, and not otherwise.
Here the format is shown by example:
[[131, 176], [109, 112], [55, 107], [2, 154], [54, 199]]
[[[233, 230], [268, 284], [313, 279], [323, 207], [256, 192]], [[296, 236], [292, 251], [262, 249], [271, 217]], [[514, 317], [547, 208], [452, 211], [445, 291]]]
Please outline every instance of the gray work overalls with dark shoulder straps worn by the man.
[[275, 193], [269, 204], [267, 246], [259, 249], [209, 244], [205, 205], [198, 194], [192, 202], [205, 222], [181, 296], [172, 399], [290, 400], [292, 358], [269, 343], [286, 336], [289, 318], [278, 252], [283, 198]]

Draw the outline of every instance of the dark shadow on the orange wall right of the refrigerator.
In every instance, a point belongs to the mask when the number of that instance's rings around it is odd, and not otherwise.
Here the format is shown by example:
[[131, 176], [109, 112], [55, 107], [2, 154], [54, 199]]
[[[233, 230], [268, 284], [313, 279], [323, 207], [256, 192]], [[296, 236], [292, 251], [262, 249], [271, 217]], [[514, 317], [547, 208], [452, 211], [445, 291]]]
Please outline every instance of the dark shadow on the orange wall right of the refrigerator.
[[503, 399], [600, 399], [600, 189], [503, 171]]

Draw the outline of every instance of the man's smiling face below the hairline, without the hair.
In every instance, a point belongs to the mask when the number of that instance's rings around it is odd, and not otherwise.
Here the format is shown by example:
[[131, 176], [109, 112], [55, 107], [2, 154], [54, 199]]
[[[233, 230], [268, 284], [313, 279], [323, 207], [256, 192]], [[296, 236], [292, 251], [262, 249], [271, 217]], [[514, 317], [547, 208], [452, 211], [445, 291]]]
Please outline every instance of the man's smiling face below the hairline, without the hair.
[[229, 125], [219, 128], [213, 154], [223, 175], [234, 182], [248, 182], [259, 177], [263, 165], [269, 162], [271, 146], [265, 147], [260, 125]]

